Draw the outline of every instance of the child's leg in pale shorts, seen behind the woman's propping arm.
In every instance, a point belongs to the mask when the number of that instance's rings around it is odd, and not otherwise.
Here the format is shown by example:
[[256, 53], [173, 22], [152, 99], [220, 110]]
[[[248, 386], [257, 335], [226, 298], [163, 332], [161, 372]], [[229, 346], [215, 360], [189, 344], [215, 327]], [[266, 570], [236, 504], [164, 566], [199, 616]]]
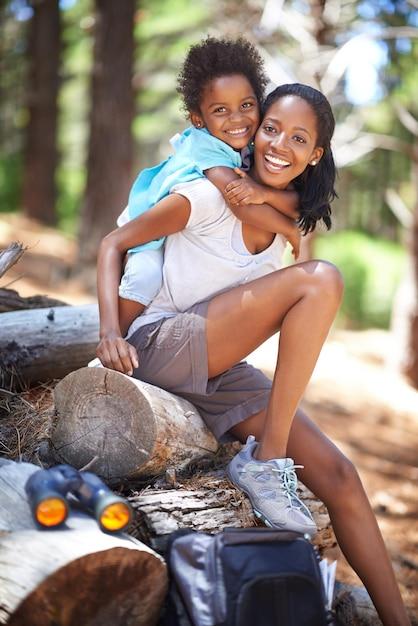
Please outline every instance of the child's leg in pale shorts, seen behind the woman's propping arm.
[[119, 324], [122, 336], [161, 287], [163, 248], [128, 253], [119, 285]]

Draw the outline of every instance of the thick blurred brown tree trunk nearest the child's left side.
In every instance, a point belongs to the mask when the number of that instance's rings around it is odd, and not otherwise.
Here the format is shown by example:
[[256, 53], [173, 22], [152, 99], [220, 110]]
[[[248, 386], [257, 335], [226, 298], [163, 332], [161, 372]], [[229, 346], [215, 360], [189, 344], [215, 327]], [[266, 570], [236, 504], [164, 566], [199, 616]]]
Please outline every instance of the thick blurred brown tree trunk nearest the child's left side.
[[80, 268], [96, 261], [131, 184], [135, 0], [96, 0], [96, 39], [87, 185], [79, 231]]

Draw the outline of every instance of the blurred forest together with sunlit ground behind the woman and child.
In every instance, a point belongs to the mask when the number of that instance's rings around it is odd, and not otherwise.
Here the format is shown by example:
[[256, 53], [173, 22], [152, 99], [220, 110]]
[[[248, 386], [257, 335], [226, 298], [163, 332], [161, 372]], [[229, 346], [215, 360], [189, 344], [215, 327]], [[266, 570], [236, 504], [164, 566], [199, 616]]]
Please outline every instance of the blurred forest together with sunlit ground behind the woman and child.
[[[271, 88], [308, 83], [335, 112], [334, 226], [303, 254], [345, 296], [304, 407], [359, 469], [418, 626], [418, 0], [0, 0], [0, 249], [29, 247], [1, 287], [94, 300], [98, 243], [188, 125], [176, 75], [207, 34], [246, 36]], [[272, 375], [276, 353], [251, 362]], [[0, 453], [32, 460], [42, 413], [19, 415]]]

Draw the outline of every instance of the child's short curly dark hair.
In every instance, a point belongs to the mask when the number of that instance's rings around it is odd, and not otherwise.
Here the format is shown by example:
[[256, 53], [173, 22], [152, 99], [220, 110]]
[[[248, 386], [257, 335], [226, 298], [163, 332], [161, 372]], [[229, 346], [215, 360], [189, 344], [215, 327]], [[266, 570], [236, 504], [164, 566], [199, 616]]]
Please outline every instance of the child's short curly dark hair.
[[177, 91], [184, 109], [199, 111], [203, 89], [214, 78], [242, 74], [254, 90], [258, 104], [264, 100], [268, 78], [256, 48], [246, 39], [206, 37], [192, 46], [177, 77]]

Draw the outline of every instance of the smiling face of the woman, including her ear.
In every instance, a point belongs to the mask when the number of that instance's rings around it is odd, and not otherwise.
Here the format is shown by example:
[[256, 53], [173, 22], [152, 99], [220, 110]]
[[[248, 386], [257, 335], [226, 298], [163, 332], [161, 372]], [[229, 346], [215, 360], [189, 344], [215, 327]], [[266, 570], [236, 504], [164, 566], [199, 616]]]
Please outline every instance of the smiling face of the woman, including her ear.
[[[255, 176], [285, 189], [308, 165], [318, 162], [316, 116], [298, 96], [284, 96], [269, 107], [255, 136]], [[314, 165], [312, 165], [314, 167]]]

